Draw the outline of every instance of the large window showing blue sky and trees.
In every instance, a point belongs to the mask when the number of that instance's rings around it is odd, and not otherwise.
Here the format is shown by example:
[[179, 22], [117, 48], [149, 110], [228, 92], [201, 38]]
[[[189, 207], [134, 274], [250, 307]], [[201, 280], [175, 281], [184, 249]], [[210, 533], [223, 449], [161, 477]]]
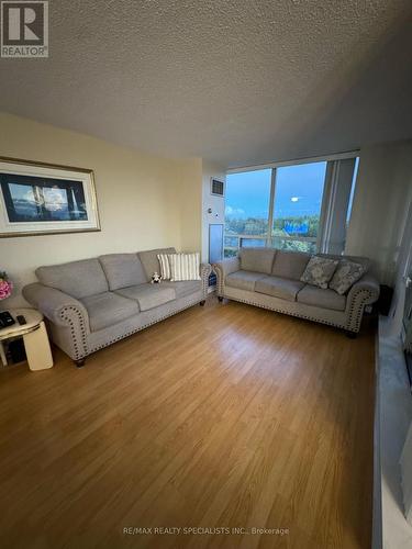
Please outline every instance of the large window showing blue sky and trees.
[[246, 246], [343, 253], [358, 159], [229, 173], [224, 255]]

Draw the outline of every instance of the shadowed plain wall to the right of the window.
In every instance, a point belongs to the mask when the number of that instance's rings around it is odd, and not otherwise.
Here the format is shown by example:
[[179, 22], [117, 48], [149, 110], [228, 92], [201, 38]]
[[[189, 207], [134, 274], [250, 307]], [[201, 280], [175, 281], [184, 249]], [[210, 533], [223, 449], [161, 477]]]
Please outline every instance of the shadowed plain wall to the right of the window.
[[412, 141], [361, 148], [345, 253], [374, 259], [381, 283], [396, 279], [411, 199]]

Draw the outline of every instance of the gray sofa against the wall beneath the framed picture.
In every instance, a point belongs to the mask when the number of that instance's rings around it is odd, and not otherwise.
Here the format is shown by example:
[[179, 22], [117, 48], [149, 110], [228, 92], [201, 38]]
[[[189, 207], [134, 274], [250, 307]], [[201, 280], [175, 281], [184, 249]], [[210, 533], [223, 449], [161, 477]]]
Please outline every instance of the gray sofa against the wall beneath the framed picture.
[[201, 265], [201, 280], [152, 284], [152, 274], [160, 272], [160, 253], [176, 250], [110, 254], [40, 267], [38, 283], [23, 288], [23, 295], [47, 318], [53, 341], [82, 366], [91, 352], [204, 304], [210, 265]]

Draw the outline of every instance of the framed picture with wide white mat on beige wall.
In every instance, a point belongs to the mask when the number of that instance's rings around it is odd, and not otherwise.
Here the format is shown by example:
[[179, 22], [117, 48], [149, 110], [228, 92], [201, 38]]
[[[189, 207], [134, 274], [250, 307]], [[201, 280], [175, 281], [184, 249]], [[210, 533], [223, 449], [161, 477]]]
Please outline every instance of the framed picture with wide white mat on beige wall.
[[100, 231], [92, 170], [0, 157], [0, 237]]

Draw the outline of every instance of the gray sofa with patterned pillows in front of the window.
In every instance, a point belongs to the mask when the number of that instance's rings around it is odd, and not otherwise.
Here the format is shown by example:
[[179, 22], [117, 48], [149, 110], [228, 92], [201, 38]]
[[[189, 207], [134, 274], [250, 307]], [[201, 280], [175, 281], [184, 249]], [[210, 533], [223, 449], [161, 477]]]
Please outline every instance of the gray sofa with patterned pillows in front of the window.
[[300, 251], [274, 248], [242, 248], [240, 256], [213, 265], [218, 277], [218, 296], [241, 301], [300, 318], [343, 328], [348, 335], [359, 332], [365, 306], [379, 298], [379, 284], [369, 273], [365, 257], [346, 257], [367, 267], [366, 273], [346, 294], [305, 284], [300, 278], [311, 257]]

